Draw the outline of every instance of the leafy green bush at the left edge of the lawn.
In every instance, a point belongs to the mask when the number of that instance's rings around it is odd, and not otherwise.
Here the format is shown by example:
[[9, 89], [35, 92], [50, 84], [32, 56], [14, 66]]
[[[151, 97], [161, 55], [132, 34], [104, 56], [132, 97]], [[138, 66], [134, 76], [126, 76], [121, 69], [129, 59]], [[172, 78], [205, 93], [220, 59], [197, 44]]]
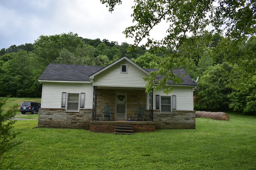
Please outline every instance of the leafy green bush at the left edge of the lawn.
[[[12, 130], [16, 120], [12, 119], [16, 115], [18, 106], [14, 106], [4, 112], [3, 106], [6, 104], [8, 97], [0, 98], [0, 158], [7, 150], [11, 149], [20, 142], [15, 140], [18, 133]], [[0, 162], [1, 164], [1, 162]]]

